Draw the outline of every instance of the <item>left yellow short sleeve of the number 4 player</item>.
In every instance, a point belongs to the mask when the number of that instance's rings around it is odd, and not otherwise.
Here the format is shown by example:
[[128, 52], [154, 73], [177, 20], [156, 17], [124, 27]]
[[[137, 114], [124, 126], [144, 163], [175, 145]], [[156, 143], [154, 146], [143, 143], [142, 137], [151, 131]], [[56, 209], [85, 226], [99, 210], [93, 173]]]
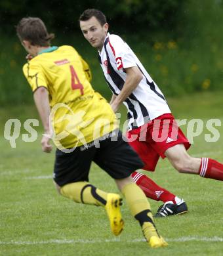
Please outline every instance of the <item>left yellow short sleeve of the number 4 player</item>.
[[33, 92], [38, 87], [45, 87], [48, 89], [47, 79], [45, 78], [45, 75], [38, 64], [30, 61], [23, 66], [22, 70]]

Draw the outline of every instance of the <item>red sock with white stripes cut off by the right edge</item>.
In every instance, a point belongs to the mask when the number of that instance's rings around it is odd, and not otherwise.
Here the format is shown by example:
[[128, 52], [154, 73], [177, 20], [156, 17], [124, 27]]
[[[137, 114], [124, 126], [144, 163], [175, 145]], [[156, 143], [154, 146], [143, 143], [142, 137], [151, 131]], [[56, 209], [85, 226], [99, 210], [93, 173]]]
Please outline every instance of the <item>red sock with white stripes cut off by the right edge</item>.
[[223, 165], [211, 158], [201, 158], [199, 175], [201, 177], [223, 181]]

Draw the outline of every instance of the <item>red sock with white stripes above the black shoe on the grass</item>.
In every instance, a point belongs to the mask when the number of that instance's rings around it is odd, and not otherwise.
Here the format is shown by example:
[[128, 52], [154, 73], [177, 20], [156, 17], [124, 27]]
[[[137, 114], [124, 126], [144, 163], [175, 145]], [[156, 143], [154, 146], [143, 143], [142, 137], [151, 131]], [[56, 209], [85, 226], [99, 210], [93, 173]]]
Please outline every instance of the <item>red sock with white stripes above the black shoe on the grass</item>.
[[171, 194], [171, 192], [165, 190], [165, 188], [161, 188], [161, 186], [155, 184], [155, 182], [146, 175], [134, 171], [134, 173], [132, 173], [132, 178], [148, 198], [152, 198], [156, 201], [163, 201], [163, 203], [168, 201], [176, 203], [174, 194]]

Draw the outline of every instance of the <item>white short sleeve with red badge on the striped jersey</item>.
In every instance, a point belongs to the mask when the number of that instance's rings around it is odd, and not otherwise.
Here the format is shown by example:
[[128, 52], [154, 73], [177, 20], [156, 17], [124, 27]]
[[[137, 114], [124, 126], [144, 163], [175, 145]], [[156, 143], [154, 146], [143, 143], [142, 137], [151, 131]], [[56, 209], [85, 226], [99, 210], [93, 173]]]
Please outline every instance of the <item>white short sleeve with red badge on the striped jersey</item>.
[[110, 35], [108, 43], [112, 49], [113, 56], [115, 57], [118, 70], [121, 68], [131, 68], [137, 66], [134, 55], [132, 54], [132, 50], [130, 49], [129, 45], [127, 45], [127, 43], [121, 39], [121, 37], [118, 35]]

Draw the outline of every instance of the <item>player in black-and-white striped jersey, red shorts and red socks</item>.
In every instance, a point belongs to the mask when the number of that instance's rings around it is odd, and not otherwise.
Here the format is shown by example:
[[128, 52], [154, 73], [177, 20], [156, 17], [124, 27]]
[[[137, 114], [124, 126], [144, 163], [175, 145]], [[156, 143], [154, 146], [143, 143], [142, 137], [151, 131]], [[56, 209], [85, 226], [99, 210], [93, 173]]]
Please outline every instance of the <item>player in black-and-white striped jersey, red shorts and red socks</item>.
[[[85, 39], [98, 49], [104, 77], [113, 93], [113, 111], [117, 112], [122, 103], [127, 107], [127, 138], [144, 161], [142, 169], [154, 171], [161, 157], [167, 158], [179, 173], [223, 181], [222, 163], [211, 158], [192, 158], [187, 153], [190, 143], [176, 124], [163, 93], [129, 45], [118, 35], [108, 33], [106, 16], [99, 10], [87, 9], [79, 17], [79, 24]], [[148, 198], [163, 201], [157, 217], [188, 211], [184, 200], [146, 175], [135, 171], [132, 177]]]

